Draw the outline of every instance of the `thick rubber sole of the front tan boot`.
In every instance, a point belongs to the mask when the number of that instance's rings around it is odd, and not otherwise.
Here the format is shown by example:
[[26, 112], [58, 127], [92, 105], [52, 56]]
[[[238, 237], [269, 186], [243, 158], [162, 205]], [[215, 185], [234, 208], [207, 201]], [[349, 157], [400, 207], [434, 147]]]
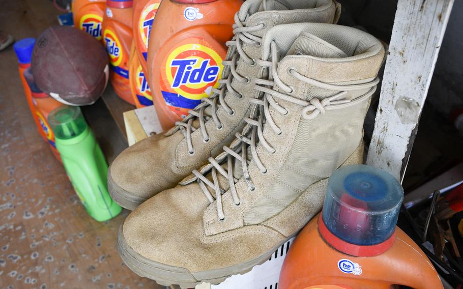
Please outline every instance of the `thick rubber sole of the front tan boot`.
[[127, 267], [129, 267], [138, 276], [155, 280], [159, 285], [179, 285], [182, 289], [194, 288], [202, 282], [218, 284], [233, 275], [247, 273], [251, 271], [252, 267], [266, 262], [270, 256], [275, 253], [279, 247], [281, 247], [282, 244], [297, 235], [296, 233], [286, 238], [283, 242], [279, 243], [271, 250], [250, 261], [221, 269], [191, 273], [185, 268], [155, 262], [135, 252], [125, 241], [122, 230], [123, 225], [124, 223], [122, 223], [119, 227], [118, 251]]

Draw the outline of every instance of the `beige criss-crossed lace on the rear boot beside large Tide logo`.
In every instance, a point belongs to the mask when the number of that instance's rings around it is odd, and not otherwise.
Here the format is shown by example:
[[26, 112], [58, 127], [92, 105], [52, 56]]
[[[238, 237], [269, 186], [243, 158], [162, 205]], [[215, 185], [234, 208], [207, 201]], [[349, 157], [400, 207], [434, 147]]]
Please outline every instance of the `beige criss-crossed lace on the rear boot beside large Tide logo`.
[[[193, 127], [193, 122], [199, 120], [199, 129], [202, 133], [202, 139], [205, 142], [210, 140], [209, 134], [206, 130], [206, 122], [213, 120], [217, 129], [220, 130], [223, 128], [222, 123], [220, 122], [217, 116], [217, 110], [219, 107], [222, 107], [228, 114], [233, 115], [235, 111], [228, 106], [225, 102], [226, 92], [229, 92], [238, 99], [243, 98], [243, 95], [236, 91], [232, 86], [233, 79], [237, 79], [243, 83], [249, 83], [251, 79], [248, 76], [240, 75], [237, 72], [237, 62], [238, 59], [242, 59], [245, 63], [250, 66], [256, 64], [255, 60], [249, 57], [246, 52], [243, 50], [243, 45], [250, 44], [258, 46], [262, 42], [262, 38], [253, 35], [253, 32], [262, 30], [265, 27], [264, 23], [246, 26], [246, 19], [249, 15], [245, 17], [244, 21], [238, 17], [238, 13], [235, 14], [235, 24], [233, 24], [233, 40], [227, 41], [225, 44], [228, 47], [227, 58], [222, 62], [224, 66], [224, 72], [222, 74], [223, 78], [219, 79], [218, 88], [213, 88], [213, 94], [209, 97], [202, 98], [201, 103], [197, 105], [194, 109], [188, 111], [188, 115], [182, 121], [176, 122], [176, 126], [170, 129], [165, 135], [169, 136], [177, 131], [181, 131], [184, 137], [187, 140], [188, 153], [194, 154], [193, 143], [191, 140], [191, 134], [197, 129]], [[231, 51], [231, 52], [230, 52]], [[210, 107], [210, 114], [208, 114], [207, 109]]]

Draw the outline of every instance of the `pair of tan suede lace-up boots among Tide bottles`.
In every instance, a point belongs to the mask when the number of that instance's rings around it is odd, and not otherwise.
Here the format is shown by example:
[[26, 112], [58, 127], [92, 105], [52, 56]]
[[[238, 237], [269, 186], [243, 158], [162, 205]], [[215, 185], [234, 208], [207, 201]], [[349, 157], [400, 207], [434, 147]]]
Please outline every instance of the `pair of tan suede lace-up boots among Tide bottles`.
[[333, 0], [245, 1], [220, 86], [111, 164], [135, 273], [188, 288], [247, 272], [320, 212], [335, 169], [362, 162], [385, 51], [339, 14]]

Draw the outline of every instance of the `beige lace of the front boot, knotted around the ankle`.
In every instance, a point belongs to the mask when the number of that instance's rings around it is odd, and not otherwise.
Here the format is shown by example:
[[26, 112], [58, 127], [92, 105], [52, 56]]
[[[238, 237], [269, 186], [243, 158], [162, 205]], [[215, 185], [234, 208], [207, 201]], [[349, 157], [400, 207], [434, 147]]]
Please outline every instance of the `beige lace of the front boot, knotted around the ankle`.
[[[218, 182], [218, 175], [222, 175], [229, 184], [230, 194], [232, 195], [234, 204], [236, 206], [240, 205], [240, 198], [237, 194], [237, 190], [235, 184], [239, 181], [237, 178], [234, 177], [233, 174], [233, 165], [234, 159], [236, 161], [241, 162], [243, 177], [247, 183], [248, 190], [253, 191], [255, 186], [249, 176], [248, 165], [253, 160], [256, 166], [259, 168], [262, 174], [267, 174], [268, 170], [262, 163], [261, 159], [257, 154], [257, 143], [261, 143], [261, 145], [267, 150], [268, 153], [274, 154], [276, 150], [267, 142], [264, 137], [263, 130], [264, 130], [264, 122], [270, 126], [273, 132], [277, 135], [282, 133], [281, 129], [275, 124], [272, 119], [272, 115], [270, 113], [269, 107], [274, 108], [277, 112], [281, 114], [287, 114], [289, 111], [287, 108], [281, 106], [275, 99], [281, 99], [284, 101], [288, 101], [300, 106], [303, 106], [302, 109], [302, 117], [307, 120], [311, 120], [316, 118], [320, 114], [325, 114], [326, 111], [335, 110], [335, 109], [343, 109], [352, 105], [356, 105], [360, 102], [366, 101], [376, 90], [376, 85], [379, 82], [378, 77], [369, 81], [367, 83], [361, 84], [350, 84], [350, 85], [337, 85], [337, 84], [329, 84], [324, 83], [321, 81], [317, 81], [312, 78], [308, 78], [299, 72], [295, 68], [288, 69], [288, 73], [291, 74], [293, 77], [297, 78], [298, 80], [316, 86], [317, 88], [327, 89], [338, 91], [335, 95], [325, 98], [325, 99], [317, 99], [313, 98], [310, 101], [305, 101], [299, 98], [295, 98], [291, 96], [293, 93], [293, 88], [289, 85], [286, 85], [281, 81], [277, 74], [277, 48], [275, 42], [271, 42], [271, 60], [264, 61], [264, 60], [257, 60], [257, 64], [259, 66], [265, 67], [269, 70], [269, 79], [255, 79], [255, 90], [262, 92], [262, 98], [255, 98], [251, 99], [250, 102], [253, 105], [251, 109], [250, 117], [245, 118], [245, 122], [247, 123], [245, 128], [243, 129], [243, 133], [237, 133], [234, 142], [230, 145], [230, 147], [224, 146], [224, 152], [214, 158], [209, 158], [209, 165], [206, 165], [201, 169], [201, 172], [197, 170], [193, 170], [194, 176], [197, 178], [197, 182], [201, 188], [201, 190], [206, 195], [207, 199], [212, 204], [216, 201], [217, 206], [217, 215], [220, 221], [225, 220], [225, 215], [223, 213], [222, 207], [222, 194], [225, 190], [219, 187]], [[281, 93], [276, 91], [272, 88], [278, 86], [280, 90], [285, 93]], [[368, 89], [369, 90], [351, 100], [342, 98], [345, 94], [349, 91], [359, 91]], [[250, 147], [250, 148], [249, 148]], [[248, 158], [247, 154], [250, 151], [251, 156], [250, 159]], [[226, 159], [227, 165], [226, 170], [220, 165]], [[205, 174], [211, 170], [212, 173], [212, 182], [205, 177]], [[212, 188], [215, 193], [213, 196], [207, 187]]]

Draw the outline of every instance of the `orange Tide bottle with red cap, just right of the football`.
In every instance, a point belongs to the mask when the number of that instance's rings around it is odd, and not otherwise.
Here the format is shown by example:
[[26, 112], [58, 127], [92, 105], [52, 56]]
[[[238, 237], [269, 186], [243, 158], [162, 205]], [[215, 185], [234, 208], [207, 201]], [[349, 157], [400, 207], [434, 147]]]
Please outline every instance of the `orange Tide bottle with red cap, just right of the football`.
[[129, 81], [129, 54], [133, 38], [132, 5], [132, 0], [106, 1], [102, 40], [109, 54], [109, 79], [115, 93], [135, 105]]

